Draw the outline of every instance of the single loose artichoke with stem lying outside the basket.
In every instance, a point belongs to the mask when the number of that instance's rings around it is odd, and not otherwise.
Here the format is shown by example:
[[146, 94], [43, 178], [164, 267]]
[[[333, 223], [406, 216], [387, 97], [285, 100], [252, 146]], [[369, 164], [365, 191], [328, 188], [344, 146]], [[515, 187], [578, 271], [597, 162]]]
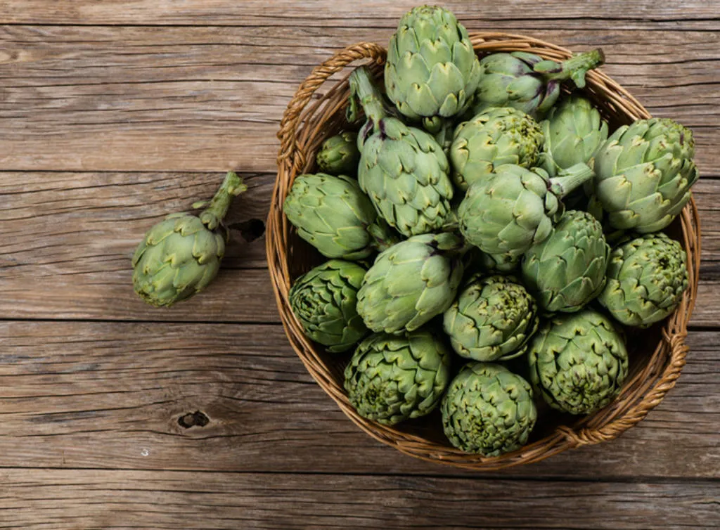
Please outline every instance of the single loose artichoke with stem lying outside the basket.
[[228, 172], [199, 216], [174, 213], [150, 228], [132, 256], [132, 286], [140, 298], [157, 307], [169, 307], [207, 287], [220, 269], [228, 232], [222, 219], [233, 197], [245, 192], [233, 171]]

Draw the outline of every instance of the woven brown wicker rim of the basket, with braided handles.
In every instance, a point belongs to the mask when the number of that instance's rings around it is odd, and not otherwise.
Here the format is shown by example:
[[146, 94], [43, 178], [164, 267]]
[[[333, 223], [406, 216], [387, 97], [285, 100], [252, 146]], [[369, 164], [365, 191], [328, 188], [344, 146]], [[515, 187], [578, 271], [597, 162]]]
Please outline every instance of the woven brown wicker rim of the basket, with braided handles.
[[[522, 50], [536, 53], [544, 58], [556, 59], [564, 59], [572, 55], [570, 50], [525, 35], [470, 32], [469, 36], [476, 53]], [[291, 280], [288, 253], [290, 227], [282, 213], [282, 202], [294, 177], [312, 163], [305, 151], [314, 155], [320, 140], [324, 138], [322, 133], [315, 134], [314, 137], [312, 134], [327, 127], [330, 118], [337, 117], [338, 112], [344, 107], [347, 97], [343, 97], [343, 94], [348, 90], [347, 76], [320, 98], [316, 97], [315, 92], [330, 76], [355, 61], [365, 60], [375, 71], [379, 71], [384, 58], [384, 48], [372, 42], [359, 42], [338, 50], [333, 57], [316, 66], [310, 76], [303, 81], [289, 102], [280, 125], [278, 174], [267, 219], [266, 251], [276, 303], [295, 353], [315, 382], [366, 434], [383, 444], [395, 447], [404, 454], [429, 462], [451, 464], [469, 470], [500, 470], [518, 464], [539, 462], [567, 449], [598, 444], [620, 436], [628, 428], [642, 421], [649, 410], [662, 401], [667, 392], [675, 386], [685, 365], [685, 356], [688, 352], [685, 338], [688, 332], [688, 320], [696, 300], [701, 252], [700, 220], [692, 198], [679, 216], [681, 243], [688, 255], [689, 286], [675, 313], [665, 321], [647, 366], [628, 378], [618, 398], [606, 408], [593, 415], [579, 418], [570, 425], [559, 426], [552, 434], [514, 452], [498, 457], [468, 454], [454, 449], [449, 443], [437, 444], [402, 431], [402, 426], [393, 428], [361, 418], [349, 403], [341, 385], [338, 385], [324, 364], [318, 354], [317, 346], [302, 333], [302, 327], [294, 317], [288, 302]], [[642, 104], [603, 71], [590, 71], [587, 81], [585, 93], [602, 102], [603, 106], [613, 109], [626, 120], [650, 117]]]

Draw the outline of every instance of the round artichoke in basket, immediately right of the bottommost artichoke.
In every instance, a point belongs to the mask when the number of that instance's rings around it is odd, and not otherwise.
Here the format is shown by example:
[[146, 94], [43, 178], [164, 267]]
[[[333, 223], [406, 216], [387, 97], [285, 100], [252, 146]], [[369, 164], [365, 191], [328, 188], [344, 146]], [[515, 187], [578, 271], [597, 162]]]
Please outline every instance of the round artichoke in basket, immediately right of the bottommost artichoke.
[[530, 379], [552, 408], [590, 414], [610, 403], [628, 373], [625, 343], [611, 320], [589, 309], [558, 313], [528, 346]]

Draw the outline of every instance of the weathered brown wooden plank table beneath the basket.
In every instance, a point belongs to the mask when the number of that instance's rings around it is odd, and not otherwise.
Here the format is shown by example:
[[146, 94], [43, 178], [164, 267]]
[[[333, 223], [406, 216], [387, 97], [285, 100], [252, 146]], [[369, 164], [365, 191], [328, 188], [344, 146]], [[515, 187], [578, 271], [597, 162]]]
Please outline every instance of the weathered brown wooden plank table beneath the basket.
[[228, 169], [264, 219], [312, 66], [413, 1], [0, 2], [0, 528], [709, 529], [720, 521], [720, 2], [451, 1], [469, 30], [602, 46], [692, 127], [701, 290], [678, 386], [620, 439], [489, 475], [346, 420], [276, 313], [264, 241], [207, 293], [140, 302], [130, 256]]

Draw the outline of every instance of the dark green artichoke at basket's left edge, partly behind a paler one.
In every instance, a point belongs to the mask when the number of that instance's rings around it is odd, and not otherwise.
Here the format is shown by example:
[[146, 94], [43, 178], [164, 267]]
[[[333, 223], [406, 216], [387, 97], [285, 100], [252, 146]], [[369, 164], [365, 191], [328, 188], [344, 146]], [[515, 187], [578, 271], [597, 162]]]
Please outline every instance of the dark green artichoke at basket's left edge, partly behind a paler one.
[[296, 279], [290, 289], [290, 307], [305, 335], [328, 351], [346, 351], [367, 333], [356, 309], [365, 272], [351, 261], [331, 259]]

